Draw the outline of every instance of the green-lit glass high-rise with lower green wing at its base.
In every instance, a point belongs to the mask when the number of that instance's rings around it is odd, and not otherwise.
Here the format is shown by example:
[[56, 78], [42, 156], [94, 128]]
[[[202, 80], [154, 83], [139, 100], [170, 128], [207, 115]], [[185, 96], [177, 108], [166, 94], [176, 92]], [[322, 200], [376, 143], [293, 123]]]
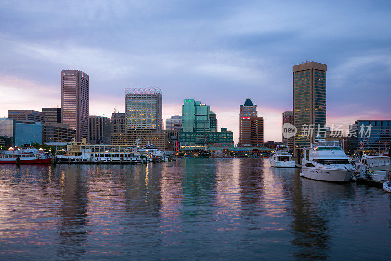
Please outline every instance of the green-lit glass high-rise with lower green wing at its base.
[[182, 105], [182, 132], [179, 133], [180, 146], [202, 147], [204, 143], [213, 146], [234, 145], [232, 131], [217, 132], [216, 115], [209, 105], [199, 100], [185, 99]]

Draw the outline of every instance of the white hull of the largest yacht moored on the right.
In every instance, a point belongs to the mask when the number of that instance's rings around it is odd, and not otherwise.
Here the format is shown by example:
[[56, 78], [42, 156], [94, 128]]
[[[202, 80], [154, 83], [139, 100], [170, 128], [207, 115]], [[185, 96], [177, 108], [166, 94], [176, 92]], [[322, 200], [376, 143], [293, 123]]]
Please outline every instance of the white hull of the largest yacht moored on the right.
[[353, 177], [354, 170], [302, 167], [302, 174], [304, 178], [317, 181], [348, 182]]

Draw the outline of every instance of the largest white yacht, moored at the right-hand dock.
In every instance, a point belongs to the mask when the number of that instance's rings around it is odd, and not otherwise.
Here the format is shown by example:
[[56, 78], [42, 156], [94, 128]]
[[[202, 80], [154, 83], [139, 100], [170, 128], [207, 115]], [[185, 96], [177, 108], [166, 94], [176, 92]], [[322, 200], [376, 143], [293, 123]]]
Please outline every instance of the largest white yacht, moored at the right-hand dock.
[[318, 140], [303, 149], [300, 176], [319, 181], [350, 181], [356, 168], [339, 142]]

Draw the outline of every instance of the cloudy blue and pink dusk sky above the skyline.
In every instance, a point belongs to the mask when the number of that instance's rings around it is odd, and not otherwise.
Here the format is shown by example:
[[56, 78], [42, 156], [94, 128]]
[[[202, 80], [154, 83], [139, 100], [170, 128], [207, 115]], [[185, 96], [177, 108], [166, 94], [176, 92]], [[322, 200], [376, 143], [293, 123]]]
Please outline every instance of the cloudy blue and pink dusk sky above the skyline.
[[3, 1], [0, 117], [61, 106], [61, 70], [89, 75], [89, 114], [159, 87], [163, 120], [201, 100], [239, 137], [251, 98], [281, 141], [292, 65], [327, 64], [327, 125], [391, 119], [391, 1]]

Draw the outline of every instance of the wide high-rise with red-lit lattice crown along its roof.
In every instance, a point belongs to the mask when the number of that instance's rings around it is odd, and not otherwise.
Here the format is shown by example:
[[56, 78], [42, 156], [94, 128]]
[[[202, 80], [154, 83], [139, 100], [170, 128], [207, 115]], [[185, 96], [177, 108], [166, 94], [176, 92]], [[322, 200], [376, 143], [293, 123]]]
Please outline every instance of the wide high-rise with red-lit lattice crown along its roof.
[[126, 130], [163, 129], [162, 92], [160, 88], [125, 89]]

